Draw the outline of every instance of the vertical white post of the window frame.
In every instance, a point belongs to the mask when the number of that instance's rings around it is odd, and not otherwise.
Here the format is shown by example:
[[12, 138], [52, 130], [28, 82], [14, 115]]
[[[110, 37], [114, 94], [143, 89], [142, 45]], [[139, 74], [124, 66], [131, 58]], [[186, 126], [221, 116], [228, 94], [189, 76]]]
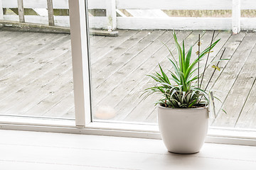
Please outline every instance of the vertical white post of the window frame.
[[70, 35], [75, 96], [75, 124], [85, 127], [91, 122], [90, 62], [87, 43], [85, 1], [69, 1]]

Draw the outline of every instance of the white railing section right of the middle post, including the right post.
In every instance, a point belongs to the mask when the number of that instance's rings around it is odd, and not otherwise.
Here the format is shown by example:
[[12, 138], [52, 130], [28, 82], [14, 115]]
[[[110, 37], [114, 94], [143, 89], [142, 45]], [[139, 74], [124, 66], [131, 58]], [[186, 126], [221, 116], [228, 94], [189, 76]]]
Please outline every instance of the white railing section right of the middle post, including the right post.
[[117, 28], [123, 29], [180, 29], [180, 30], [242, 30], [256, 28], [256, 18], [240, 18], [242, 9], [256, 9], [254, 0], [118, 0], [117, 8], [169, 10], [233, 10], [232, 18], [201, 17], [117, 17]]

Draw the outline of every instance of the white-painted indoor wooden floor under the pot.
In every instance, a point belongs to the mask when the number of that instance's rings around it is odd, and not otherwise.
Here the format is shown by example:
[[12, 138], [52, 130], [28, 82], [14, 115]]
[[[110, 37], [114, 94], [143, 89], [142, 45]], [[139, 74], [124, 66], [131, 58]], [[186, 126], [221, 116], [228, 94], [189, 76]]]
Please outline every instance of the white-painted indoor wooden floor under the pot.
[[[197, 154], [172, 154], [162, 140], [0, 130], [5, 170], [256, 169], [256, 147], [205, 143]], [[18, 139], [18, 140], [17, 140]]]

